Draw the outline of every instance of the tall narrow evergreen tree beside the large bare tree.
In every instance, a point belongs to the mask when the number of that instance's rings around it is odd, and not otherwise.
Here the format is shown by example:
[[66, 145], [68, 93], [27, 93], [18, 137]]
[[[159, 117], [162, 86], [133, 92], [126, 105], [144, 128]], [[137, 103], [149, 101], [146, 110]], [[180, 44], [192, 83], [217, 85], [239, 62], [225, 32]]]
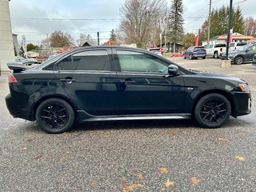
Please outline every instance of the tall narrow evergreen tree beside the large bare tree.
[[169, 25], [168, 25], [168, 34], [170, 38], [170, 42], [174, 43], [174, 52], [176, 50], [176, 43], [182, 41], [182, 37], [184, 34], [183, 31], [183, 6], [182, 0], [172, 0], [170, 6], [170, 14], [169, 14]]

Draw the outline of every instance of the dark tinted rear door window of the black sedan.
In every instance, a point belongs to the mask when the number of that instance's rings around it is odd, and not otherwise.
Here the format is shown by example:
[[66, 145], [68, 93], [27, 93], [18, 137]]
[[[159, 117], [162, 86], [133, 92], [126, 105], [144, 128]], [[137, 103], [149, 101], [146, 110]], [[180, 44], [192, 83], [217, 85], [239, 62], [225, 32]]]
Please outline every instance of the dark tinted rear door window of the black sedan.
[[76, 70], [110, 70], [106, 50], [87, 50], [73, 55]]

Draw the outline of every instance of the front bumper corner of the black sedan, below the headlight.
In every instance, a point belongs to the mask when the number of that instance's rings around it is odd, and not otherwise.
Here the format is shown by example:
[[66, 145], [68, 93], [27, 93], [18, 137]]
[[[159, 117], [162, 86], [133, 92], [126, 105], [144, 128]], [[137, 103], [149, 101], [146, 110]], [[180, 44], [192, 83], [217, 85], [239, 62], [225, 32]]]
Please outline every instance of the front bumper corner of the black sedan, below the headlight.
[[243, 92], [233, 92], [234, 98], [234, 110], [233, 116], [236, 118], [238, 116], [246, 115], [251, 113], [251, 94]]

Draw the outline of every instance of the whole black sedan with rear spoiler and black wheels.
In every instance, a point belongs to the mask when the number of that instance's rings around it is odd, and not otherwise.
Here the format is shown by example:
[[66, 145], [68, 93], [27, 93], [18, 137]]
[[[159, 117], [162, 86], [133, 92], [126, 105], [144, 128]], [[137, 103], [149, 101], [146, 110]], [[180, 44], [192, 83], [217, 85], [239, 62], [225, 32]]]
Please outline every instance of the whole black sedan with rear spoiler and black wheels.
[[251, 112], [243, 80], [186, 70], [146, 50], [82, 47], [30, 70], [8, 66], [10, 114], [49, 133], [74, 122], [131, 119], [194, 118], [215, 128]]

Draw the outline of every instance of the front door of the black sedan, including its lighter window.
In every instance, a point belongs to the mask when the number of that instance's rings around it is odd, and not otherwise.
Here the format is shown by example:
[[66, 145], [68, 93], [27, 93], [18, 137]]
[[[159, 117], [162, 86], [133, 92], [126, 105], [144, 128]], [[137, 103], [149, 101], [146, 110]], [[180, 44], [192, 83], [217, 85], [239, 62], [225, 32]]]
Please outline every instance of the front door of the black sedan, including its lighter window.
[[166, 74], [170, 63], [135, 51], [116, 50], [116, 54], [120, 114], [182, 113], [184, 82], [182, 76]]

